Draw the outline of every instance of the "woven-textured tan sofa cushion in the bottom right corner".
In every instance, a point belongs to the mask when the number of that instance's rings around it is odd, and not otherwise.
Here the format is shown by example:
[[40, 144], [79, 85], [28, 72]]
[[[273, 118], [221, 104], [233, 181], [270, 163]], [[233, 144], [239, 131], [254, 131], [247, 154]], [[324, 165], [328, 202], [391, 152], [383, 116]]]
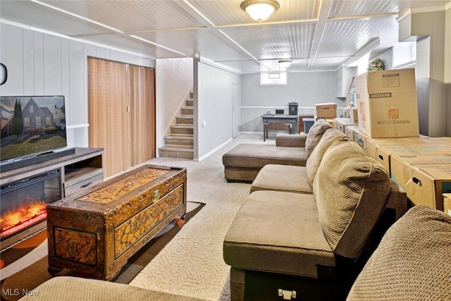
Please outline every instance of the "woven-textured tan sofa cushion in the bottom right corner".
[[385, 233], [347, 300], [451, 300], [450, 258], [451, 217], [412, 207]]

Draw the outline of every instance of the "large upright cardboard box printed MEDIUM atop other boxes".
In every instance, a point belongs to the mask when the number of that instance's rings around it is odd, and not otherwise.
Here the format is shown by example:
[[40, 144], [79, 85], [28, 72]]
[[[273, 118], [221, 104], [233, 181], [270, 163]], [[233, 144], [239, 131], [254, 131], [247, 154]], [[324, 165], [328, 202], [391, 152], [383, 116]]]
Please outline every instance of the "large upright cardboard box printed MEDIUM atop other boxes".
[[359, 129], [372, 138], [419, 135], [414, 68], [357, 76]]

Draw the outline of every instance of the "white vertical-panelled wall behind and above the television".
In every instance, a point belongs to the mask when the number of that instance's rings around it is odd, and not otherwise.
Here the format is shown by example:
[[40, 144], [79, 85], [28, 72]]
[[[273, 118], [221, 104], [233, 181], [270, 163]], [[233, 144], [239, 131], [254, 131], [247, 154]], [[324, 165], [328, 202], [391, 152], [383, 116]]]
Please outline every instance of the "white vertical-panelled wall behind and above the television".
[[64, 95], [69, 147], [88, 146], [88, 56], [155, 67], [153, 59], [23, 27], [1, 24], [0, 36], [0, 62], [8, 69], [0, 94]]

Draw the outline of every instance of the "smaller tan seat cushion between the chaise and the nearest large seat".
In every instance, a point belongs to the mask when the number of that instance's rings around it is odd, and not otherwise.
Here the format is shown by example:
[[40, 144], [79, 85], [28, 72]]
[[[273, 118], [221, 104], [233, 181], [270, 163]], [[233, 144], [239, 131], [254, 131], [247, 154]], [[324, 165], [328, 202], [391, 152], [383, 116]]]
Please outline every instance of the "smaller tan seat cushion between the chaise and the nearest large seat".
[[297, 193], [313, 193], [307, 182], [304, 166], [268, 164], [261, 168], [251, 185], [251, 192], [277, 190]]

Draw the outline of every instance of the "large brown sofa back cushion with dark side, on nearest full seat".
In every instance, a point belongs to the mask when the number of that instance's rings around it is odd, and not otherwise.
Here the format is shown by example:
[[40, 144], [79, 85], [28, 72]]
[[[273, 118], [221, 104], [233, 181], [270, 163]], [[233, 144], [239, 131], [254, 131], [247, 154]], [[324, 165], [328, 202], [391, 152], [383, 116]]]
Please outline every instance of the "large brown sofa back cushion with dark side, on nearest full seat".
[[387, 171], [354, 141], [333, 142], [318, 168], [313, 192], [333, 252], [356, 258], [390, 192]]

